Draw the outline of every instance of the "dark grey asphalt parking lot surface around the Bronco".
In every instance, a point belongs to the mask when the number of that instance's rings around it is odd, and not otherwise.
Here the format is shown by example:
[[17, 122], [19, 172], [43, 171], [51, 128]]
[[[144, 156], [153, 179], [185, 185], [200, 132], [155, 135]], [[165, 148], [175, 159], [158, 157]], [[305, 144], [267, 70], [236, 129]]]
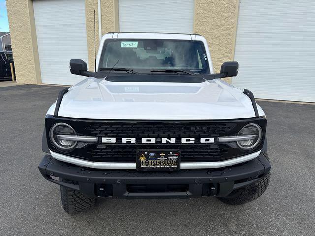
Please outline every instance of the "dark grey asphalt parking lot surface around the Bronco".
[[257, 200], [104, 199], [68, 215], [38, 171], [44, 117], [63, 87], [0, 88], [0, 236], [315, 235], [315, 105], [258, 104], [267, 114], [271, 183]]

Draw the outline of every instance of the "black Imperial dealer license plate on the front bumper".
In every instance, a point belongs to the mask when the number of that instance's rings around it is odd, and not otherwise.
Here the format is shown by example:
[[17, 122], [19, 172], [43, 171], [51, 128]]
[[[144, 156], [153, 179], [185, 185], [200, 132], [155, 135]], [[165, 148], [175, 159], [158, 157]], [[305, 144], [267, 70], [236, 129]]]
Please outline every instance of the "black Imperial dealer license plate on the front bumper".
[[138, 171], [177, 171], [180, 169], [179, 150], [137, 150]]

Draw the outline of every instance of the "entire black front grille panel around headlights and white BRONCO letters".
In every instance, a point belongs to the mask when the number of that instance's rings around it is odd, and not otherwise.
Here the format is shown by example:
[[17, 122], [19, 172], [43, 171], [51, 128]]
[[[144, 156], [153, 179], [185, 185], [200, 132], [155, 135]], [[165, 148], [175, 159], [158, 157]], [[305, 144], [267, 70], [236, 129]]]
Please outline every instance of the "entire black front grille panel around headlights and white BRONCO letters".
[[[97, 136], [97, 144], [87, 144], [75, 148], [66, 155], [98, 162], [135, 162], [137, 150], [164, 149], [180, 150], [181, 162], [207, 162], [223, 161], [245, 154], [252, 153], [262, 148], [243, 151], [235, 143], [218, 143], [217, 137], [236, 135], [248, 123], [259, 124], [265, 132], [266, 120], [252, 118], [234, 121], [91, 121], [67, 118], [46, 118], [46, 134], [50, 127], [57, 122], [71, 125], [78, 135]], [[48, 131], [47, 131], [48, 130]], [[47, 135], [49, 137], [49, 135]], [[116, 138], [116, 143], [101, 143], [101, 137]], [[200, 143], [200, 138], [212, 137], [214, 143]], [[122, 143], [122, 138], [136, 138], [136, 143]], [[141, 138], [155, 138], [156, 143], [142, 144]], [[177, 138], [176, 143], [162, 144], [161, 138]], [[195, 138], [195, 143], [181, 143], [180, 138]], [[48, 142], [49, 148], [55, 152], [59, 150]], [[64, 153], [63, 153], [64, 154]]]

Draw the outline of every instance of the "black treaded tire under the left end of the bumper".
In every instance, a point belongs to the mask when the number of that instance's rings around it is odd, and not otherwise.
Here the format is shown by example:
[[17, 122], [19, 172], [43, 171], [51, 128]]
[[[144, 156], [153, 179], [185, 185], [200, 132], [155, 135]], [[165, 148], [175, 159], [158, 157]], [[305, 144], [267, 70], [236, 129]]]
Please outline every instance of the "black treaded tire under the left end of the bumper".
[[[61, 181], [73, 183], [64, 179]], [[86, 211], [95, 206], [96, 198], [88, 197], [78, 190], [60, 186], [60, 195], [63, 209], [69, 214]]]

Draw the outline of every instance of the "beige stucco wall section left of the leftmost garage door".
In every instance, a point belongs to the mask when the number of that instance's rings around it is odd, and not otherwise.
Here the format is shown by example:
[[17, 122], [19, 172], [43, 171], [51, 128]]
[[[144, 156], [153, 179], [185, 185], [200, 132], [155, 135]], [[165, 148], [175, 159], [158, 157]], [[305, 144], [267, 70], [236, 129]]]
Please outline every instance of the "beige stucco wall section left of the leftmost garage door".
[[32, 1], [6, 0], [6, 5], [17, 82], [38, 84], [41, 80]]

